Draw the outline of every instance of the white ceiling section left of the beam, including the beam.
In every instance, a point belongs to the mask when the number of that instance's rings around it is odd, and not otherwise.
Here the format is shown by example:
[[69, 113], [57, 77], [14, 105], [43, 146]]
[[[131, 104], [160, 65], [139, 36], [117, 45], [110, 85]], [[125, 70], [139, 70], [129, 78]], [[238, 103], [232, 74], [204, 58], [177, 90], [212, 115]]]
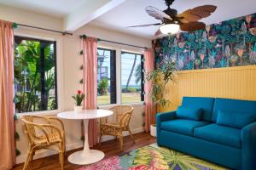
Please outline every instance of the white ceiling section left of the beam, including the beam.
[[59, 17], [63, 19], [63, 31], [75, 31], [123, 2], [125, 0], [0, 0], [0, 5]]

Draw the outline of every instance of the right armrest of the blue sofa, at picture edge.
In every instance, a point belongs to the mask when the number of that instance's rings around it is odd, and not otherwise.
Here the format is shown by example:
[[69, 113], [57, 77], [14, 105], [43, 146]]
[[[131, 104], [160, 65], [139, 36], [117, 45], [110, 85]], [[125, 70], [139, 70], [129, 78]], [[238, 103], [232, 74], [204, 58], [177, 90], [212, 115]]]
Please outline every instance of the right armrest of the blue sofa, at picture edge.
[[242, 169], [256, 169], [256, 122], [241, 129]]

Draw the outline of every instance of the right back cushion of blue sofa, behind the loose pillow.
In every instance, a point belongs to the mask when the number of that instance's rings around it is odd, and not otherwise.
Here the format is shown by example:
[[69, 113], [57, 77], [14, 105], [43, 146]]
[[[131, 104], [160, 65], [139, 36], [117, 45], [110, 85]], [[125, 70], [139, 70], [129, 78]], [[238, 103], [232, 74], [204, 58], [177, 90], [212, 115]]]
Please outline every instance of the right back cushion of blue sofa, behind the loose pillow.
[[256, 101], [241, 99], [215, 99], [212, 122], [217, 121], [218, 111], [240, 112], [256, 116]]

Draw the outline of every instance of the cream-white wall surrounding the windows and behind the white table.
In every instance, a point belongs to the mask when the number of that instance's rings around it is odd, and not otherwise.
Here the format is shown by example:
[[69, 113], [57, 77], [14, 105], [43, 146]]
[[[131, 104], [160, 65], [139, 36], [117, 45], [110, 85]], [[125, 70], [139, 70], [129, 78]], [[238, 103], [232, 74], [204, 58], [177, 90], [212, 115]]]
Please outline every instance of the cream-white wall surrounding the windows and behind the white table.
[[[62, 20], [56, 19], [42, 14], [29, 13], [17, 8], [9, 8], [0, 6], [0, 20], [10, 20], [13, 22], [27, 24], [32, 26], [42, 26], [45, 28], [61, 30]], [[47, 114], [55, 115], [60, 111], [73, 110], [73, 99], [71, 96], [78, 90], [82, 89], [79, 84], [82, 78], [82, 71], [79, 70], [82, 65], [82, 56], [80, 51], [79, 35], [85, 34], [90, 37], [98, 37], [116, 42], [125, 42], [137, 46], [150, 47], [151, 41], [139, 37], [133, 37], [120, 32], [105, 30], [94, 26], [84, 26], [78, 31], [75, 31], [73, 36], [62, 36], [48, 31], [36, 31], [26, 28], [18, 28], [15, 30], [15, 35], [37, 37], [41, 39], [55, 40], [57, 42], [57, 78], [58, 78], [58, 97], [59, 110], [48, 112]], [[143, 53], [143, 49], [130, 48], [125, 46], [114, 45], [111, 43], [99, 42], [99, 47], [113, 48], [117, 51], [117, 63], [120, 62], [121, 50]], [[120, 71], [120, 65], [117, 64], [117, 71]], [[117, 77], [117, 81], [120, 77]], [[120, 96], [120, 95], [119, 95]], [[118, 101], [120, 98], [118, 97]], [[105, 107], [108, 109], [108, 107]], [[131, 131], [138, 133], [143, 131], [143, 105], [134, 105], [135, 111], [131, 118]], [[40, 113], [40, 114], [45, 114]], [[82, 147], [80, 140], [80, 122], [64, 121], [67, 135], [67, 150]], [[27, 139], [23, 133], [20, 121], [16, 124], [17, 132], [20, 134], [20, 140], [17, 141], [17, 148], [21, 155], [17, 157], [17, 163], [20, 163], [26, 158]], [[108, 137], [103, 140], [109, 139]], [[49, 156], [53, 152], [42, 150], [37, 153], [35, 158]]]

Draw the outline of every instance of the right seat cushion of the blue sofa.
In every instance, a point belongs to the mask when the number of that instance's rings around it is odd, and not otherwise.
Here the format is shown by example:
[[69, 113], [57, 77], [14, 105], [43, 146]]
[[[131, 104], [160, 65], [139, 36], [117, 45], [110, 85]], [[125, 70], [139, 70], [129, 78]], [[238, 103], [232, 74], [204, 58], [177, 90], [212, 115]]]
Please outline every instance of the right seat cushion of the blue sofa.
[[241, 148], [241, 129], [213, 123], [205, 127], [195, 128], [194, 136], [218, 144]]

